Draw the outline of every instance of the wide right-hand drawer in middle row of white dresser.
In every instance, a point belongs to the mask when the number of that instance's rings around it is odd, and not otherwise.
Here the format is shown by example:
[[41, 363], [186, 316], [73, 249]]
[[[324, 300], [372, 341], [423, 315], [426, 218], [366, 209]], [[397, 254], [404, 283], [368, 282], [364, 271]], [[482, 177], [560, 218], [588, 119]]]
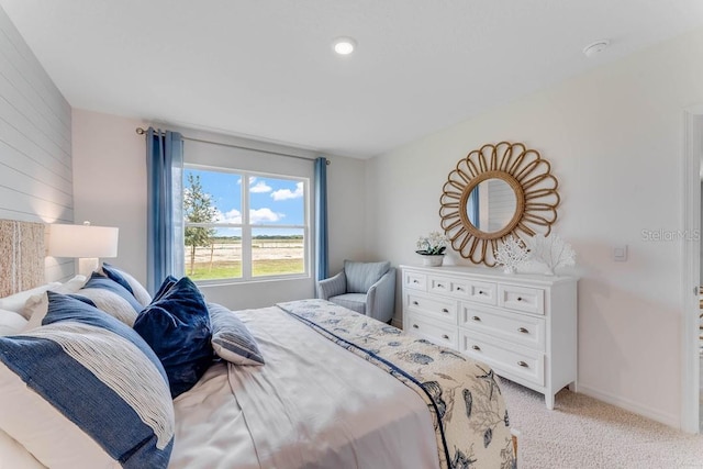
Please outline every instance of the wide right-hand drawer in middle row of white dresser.
[[535, 350], [545, 350], [546, 326], [544, 317], [461, 302], [459, 305], [459, 326], [524, 345]]

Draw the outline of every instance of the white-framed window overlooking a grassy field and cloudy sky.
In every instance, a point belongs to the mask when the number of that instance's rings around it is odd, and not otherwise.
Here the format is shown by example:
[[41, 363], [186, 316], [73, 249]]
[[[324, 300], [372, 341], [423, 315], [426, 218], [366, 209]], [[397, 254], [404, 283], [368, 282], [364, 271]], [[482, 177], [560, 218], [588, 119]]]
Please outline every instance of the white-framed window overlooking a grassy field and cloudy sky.
[[187, 165], [185, 275], [193, 280], [308, 276], [308, 179]]

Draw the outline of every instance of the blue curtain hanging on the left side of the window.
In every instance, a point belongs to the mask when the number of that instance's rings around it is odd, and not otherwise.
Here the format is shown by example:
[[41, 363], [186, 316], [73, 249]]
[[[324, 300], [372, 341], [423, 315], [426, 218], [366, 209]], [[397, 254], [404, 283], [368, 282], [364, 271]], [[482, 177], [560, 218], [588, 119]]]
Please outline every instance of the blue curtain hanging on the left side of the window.
[[183, 141], [177, 132], [149, 127], [147, 166], [147, 290], [183, 276]]

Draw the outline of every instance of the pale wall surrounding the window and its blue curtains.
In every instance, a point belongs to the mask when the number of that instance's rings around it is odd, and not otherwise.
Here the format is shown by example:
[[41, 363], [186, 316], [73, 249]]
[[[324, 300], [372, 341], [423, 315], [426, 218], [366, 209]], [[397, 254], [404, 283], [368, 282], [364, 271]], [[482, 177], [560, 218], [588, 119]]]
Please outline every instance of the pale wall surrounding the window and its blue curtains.
[[[155, 127], [185, 136], [250, 147], [316, 156], [295, 148], [245, 141], [208, 132], [160, 124]], [[146, 160], [143, 121], [74, 110], [74, 180], [76, 220], [120, 228], [119, 257], [112, 263], [145, 282], [146, 267]], [[187, 142], [187, 145], [189, 142]], [[201, 144], [199, 144], [201, 145]], [[186, 146], [187, 150], [187, 146]], [[276, 157], [260, 154], [261, 158]], [[280, 157], [278, 157], [280, 158]], [[330, 266], [338, 270], [345, 258], [364, 258], [365, 161], [327, 155]], [[312, 167], [312, 161], [310, 163]], [[235, 165], [236, 166], [236, 165]], [[271, 167], [275, 171], [276, 163]], [[268, 281], [202, 287], [209, 301], [233, 309], [259, 308], [278, 301], [311, 298], [312, 280]]]

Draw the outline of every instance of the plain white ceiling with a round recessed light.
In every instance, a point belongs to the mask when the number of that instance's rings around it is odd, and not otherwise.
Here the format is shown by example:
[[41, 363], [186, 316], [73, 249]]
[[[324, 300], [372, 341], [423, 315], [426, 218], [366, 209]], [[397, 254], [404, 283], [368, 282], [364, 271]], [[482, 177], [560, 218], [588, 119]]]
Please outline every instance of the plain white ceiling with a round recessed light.
[[0, 5], [74, 108], [359, 158], [703, 25], [701, 0]]

